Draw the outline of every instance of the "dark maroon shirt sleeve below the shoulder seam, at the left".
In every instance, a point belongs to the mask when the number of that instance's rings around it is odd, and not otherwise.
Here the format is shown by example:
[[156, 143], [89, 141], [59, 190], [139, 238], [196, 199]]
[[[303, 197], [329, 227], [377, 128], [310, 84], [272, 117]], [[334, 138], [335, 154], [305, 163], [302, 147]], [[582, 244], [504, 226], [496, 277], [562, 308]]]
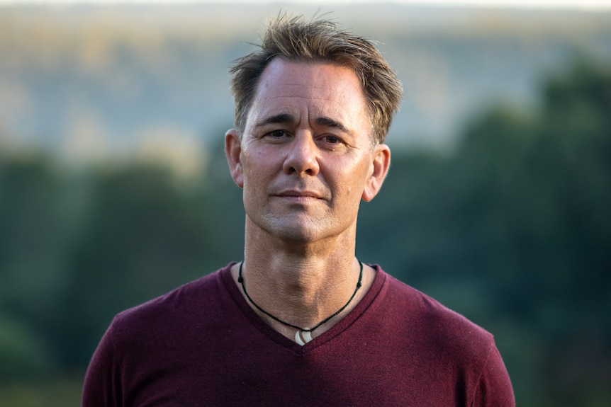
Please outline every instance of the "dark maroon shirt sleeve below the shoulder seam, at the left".
[[85, 374], [82, 407], [122, 406], [120, 365], [113, 341], [113, 325], [102, 337]]

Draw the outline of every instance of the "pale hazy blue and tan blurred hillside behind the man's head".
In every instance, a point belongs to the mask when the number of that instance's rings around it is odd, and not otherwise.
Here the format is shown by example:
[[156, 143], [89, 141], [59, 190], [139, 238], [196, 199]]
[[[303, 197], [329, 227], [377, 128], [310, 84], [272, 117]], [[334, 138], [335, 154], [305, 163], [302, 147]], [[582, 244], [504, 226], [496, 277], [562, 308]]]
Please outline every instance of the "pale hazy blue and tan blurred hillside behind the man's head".
[[[151, 143], [189, 151], [220, 137], [232, 125], [227, 67], [252, 49], [247, 42], [257, 41], [262, 21], [278, 9], [0, 8], [0, 148], [27, 143], [89, 159]], [[316, 8], [287, 10], [312, 15]], [[534, 107], [540, 78], [576, 55], [611, 59], [611, 13], [398, 5], [325, 11], [381, 42], [398, 71], [405, 101], [388, 140], [396, 146], [447, 146], [490, 103]]]

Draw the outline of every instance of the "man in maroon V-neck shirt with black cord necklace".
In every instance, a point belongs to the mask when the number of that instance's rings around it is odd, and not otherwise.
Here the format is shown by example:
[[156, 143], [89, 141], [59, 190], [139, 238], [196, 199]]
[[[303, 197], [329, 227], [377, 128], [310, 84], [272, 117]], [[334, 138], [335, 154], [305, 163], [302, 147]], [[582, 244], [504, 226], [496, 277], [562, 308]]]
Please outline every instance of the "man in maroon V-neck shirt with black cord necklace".
[[355, 257], [401, 86], [370, 42], [279, 16], [232, 67], [244, 260], [116, 316], [84, 406], [513, 406], [491, 334]]

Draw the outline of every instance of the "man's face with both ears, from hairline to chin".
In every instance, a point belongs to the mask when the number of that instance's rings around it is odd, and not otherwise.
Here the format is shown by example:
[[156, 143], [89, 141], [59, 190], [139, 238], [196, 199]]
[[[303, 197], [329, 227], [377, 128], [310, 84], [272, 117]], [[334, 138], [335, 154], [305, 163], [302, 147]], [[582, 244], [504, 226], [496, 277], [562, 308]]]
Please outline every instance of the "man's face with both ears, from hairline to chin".
[[351, 70], [274, 59], [241, 142], [235, 130], [226, 137], [247, 227], [295, 243], [354, 236], [360, 200], [376, 195], [390, 159], [388, 147], [372, 146], [371, 131]]

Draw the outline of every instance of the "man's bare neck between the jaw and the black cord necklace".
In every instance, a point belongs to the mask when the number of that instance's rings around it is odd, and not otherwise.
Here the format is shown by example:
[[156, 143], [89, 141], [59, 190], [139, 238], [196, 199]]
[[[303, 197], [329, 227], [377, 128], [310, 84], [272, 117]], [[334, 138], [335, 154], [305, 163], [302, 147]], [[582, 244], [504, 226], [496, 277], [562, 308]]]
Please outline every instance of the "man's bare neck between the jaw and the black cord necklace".
[[[291, 315], [318, 319], [345, 303], [358, 278], [356, 236], [348, 231], [315, 242], [286, 241], [247, 222], [245, 277], [255, 302], [260, 297]], [[251, 288], [252, 287], [252, 288]], [[307, 324], [306, 324], [307, 325]]]

